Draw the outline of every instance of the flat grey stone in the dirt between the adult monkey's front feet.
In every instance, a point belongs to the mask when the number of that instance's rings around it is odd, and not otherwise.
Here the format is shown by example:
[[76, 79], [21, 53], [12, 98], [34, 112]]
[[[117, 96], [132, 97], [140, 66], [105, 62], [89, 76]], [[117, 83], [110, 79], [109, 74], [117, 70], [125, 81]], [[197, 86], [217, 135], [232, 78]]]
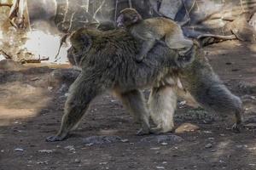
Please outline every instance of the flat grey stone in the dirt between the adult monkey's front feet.
[[84, 144], [111, 144], [114, 142], [122, 142], [122, 139], [119, 136], [90, 136], [83, 139]]

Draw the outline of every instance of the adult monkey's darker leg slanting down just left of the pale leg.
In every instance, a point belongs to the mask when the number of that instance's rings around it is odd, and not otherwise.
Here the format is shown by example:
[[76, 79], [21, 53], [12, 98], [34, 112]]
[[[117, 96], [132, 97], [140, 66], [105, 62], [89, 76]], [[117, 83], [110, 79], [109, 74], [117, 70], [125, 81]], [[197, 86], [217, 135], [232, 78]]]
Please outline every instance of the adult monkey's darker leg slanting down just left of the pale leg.
[[126, 93], [119, 93], [119, 98], [142, 128], [137, 132], [138, 135], [150, 133], [149, 114], [145, 106], [145, 99], [139, 90], [132, 90]]

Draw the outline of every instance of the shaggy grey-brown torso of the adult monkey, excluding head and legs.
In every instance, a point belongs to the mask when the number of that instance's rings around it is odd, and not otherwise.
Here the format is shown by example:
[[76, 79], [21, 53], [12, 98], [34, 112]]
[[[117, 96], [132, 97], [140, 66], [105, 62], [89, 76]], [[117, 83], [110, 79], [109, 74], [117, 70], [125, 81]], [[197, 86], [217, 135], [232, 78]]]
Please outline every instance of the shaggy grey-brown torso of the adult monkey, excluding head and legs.
[[[135, 55], [141, 48], [124, 30], [90, 31], [91, 46], [83, 55], [82, 69], [100, 75], [108, 87], [136, 89], [154, 86], [176, 68], [177, 55], [163, 44], [156, 44], [143, 62], [137, 63]], [[168, 56], [166, 56], [168, 55]]]

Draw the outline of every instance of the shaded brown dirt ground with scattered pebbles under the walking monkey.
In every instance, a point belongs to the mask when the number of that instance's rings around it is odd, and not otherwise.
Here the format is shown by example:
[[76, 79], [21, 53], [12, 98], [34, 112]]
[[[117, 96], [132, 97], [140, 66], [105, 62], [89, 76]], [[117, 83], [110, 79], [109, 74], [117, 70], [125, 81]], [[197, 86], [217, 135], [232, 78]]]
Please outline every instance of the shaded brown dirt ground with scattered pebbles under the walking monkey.
[[[69, 139], [47, 143], [60, 127], [68, 84], [50, 84], [54, 68], [45, 65], [13, 71], [0, 65], [0, 170], [256, 169], [256, 45], [221, 42], [205, 50], [214, 70], [244, 102], [245, 124], [250, 124], [241, 133], [230, 131], [231, 121], [179, 103], [176, 127], [189, 122], [200, 129], [176, 134], [183, 141], [145, 142], [120, 102], [105, 94]], [[84, 144], [95, 135], [123, 140]]]

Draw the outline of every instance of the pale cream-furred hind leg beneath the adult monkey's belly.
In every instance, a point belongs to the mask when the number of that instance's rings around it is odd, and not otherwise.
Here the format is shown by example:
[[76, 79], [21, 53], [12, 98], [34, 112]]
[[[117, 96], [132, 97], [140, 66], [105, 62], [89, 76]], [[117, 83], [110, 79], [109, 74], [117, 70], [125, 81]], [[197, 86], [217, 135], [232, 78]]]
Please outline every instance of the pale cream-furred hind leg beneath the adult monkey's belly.
[[148, 99], [148, 107], [150, 116], [157, 126], [151, 132], [171, 132], [174, 127], [173, 115], [177, 107], [175, 88], [171, 86], [153, 88]]

